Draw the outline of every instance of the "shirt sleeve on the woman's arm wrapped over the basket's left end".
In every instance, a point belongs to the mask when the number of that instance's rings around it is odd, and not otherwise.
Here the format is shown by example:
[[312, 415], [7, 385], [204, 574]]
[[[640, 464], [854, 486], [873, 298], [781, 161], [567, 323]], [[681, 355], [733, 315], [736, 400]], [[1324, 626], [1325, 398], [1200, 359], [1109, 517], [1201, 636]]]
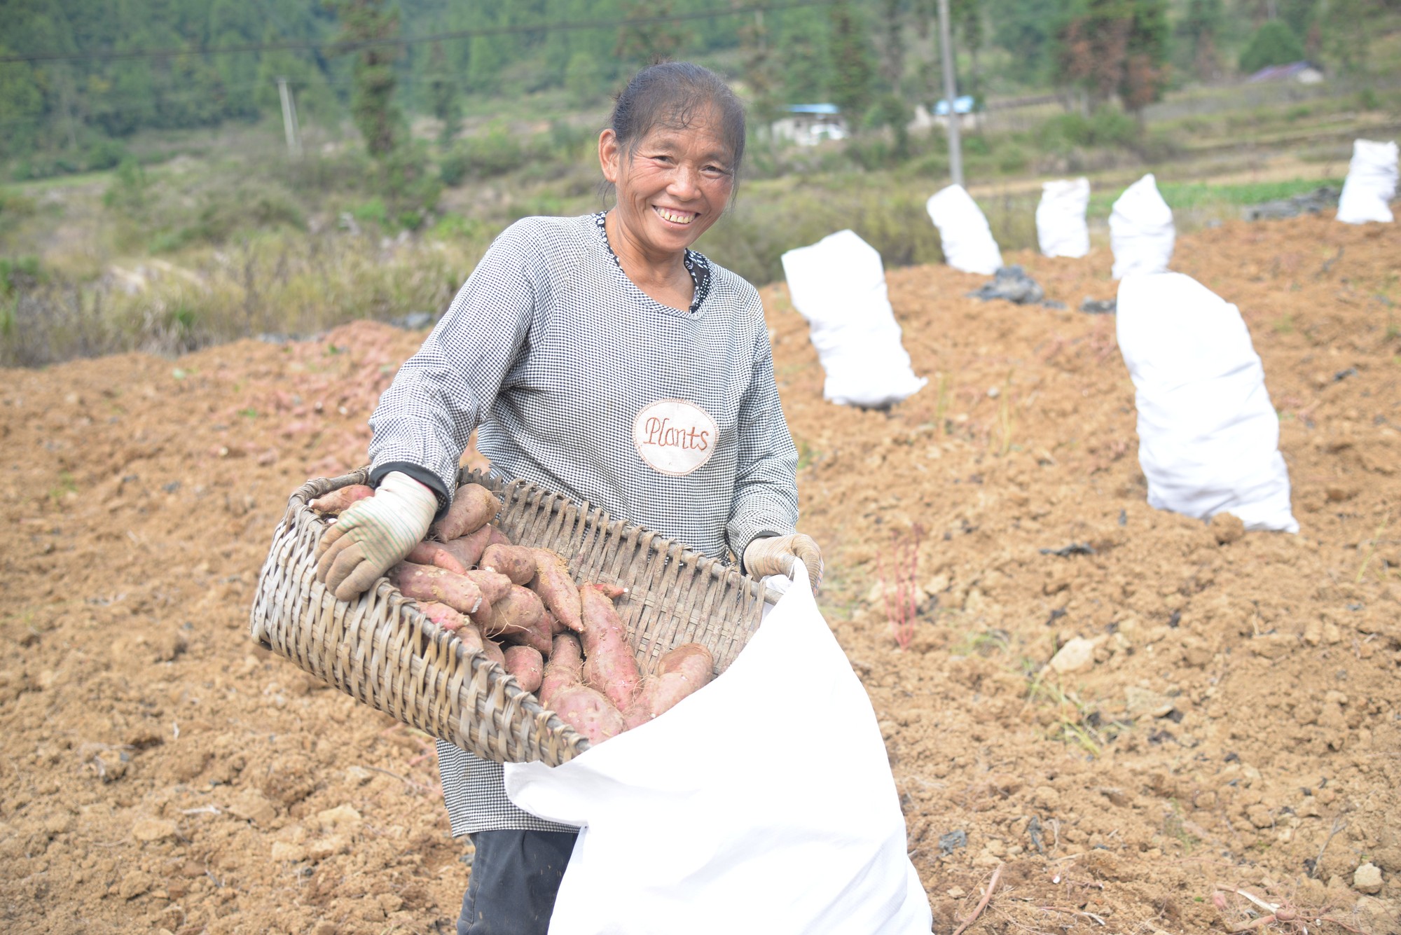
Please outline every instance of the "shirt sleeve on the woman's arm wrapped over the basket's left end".
[[514, 228], [492, 244], [423, 347], [380, 398], [370, 417], [371, 479], [408, 469], [425, 483], [439, 480], [440, 507], [448, 505], [468, 438], [486, 420], [530, 340], [535, 260], [534, 245]]

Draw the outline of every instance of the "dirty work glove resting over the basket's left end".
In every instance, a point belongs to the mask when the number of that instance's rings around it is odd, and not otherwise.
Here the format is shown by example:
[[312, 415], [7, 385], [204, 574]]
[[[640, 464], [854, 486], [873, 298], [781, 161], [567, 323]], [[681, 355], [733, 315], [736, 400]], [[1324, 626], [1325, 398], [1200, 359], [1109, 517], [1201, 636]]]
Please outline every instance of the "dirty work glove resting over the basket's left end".
[[373, 497], [350, 504], [321, 537], [317, 581], [336, 600], [354, 600], [413, 551], [436, 512], [437, 495], [432, 490], [408, 474], [389, 472]]

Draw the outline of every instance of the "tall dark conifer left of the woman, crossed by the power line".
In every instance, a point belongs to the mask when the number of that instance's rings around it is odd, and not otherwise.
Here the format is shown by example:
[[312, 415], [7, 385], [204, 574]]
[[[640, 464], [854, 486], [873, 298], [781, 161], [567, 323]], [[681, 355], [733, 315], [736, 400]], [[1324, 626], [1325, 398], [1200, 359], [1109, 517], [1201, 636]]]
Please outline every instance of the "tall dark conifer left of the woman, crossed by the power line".
[[[385, 0], [340, 0], [340, 42], [370, 42], [392, 39], [399, 34], [398, 7]], [[394, 104], [395, 45], [368, 45], [353, 52], [354, 91], [350, 115], [364, 137], [370, 155], [381, 157], [394, 151], [399, 140], [402, 118]]]

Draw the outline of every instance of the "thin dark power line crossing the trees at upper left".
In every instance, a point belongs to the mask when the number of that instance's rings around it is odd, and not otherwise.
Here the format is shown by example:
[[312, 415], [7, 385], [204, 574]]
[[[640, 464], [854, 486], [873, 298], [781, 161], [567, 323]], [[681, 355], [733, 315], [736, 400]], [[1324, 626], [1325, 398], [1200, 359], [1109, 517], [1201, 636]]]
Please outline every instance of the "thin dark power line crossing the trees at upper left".
[[776, 13], [780, 10], [799, 10], [804, 7], [829, 7], [841, 0], [796, 0], [794, 3], [773, 3], [768, 6], [730, 7], [729, 10], [706, 10], [702, 13], [672, 13], [657, 17], [636, 17], [622, 20], [574, 20], [566, 22], [537, 22], [513, 27], [483, 27], [479, 29], [455, 29], [439, 32], [430, 36], [395, 36], [388, 39], [363, 39], [360, 42], [259, 42], [249, 45], [230, 45], [217, 48], [192, 49], [130, 49], [127, 52], [41, 52], [36, 55], [6, 55], [0, 56], [0, 64], [34, 63], [34, 62], [113, 62], [118, 59], [174, 59], [191, 55], [242, 55], [247, 52], [277, 52], [277, 50], [312, 50], [322, 52], [353, 52], [382, 45], [420, 45], [423, 42], [446, 42], [453, 39], [472, 39], [476, 36], [518, 35], [527, 32], [574, 32], [579, 29], [611, 29], [616, 27], [642, 27], [657, 22], [684, 22], [689, 20], [716, 20], [719, 17], [734, 17], [751, 13]]

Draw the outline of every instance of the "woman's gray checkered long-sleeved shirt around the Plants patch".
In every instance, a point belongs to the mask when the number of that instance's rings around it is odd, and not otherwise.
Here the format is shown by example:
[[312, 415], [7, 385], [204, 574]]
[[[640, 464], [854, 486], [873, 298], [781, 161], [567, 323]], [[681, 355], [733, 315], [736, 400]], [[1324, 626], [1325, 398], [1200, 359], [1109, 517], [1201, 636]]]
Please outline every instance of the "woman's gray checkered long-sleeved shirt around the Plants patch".
[[[709, 556], [743, 556], [797, 523], [797, 452], [752, 286], [688, 252], [696, 302], [647, 297], [608, 248], [602, 216], [532, 217], [496, 239], [370, 419], [373, 477], [408, 470], [454, 488], [468, 435], [503, 479], [527, 479]], [[654, 470], [633, 417], [665, 399], [703, 409], [715, 454]], [[453, 834], [573, 830], [516, 808], [502, 767], [439, 743]]]

